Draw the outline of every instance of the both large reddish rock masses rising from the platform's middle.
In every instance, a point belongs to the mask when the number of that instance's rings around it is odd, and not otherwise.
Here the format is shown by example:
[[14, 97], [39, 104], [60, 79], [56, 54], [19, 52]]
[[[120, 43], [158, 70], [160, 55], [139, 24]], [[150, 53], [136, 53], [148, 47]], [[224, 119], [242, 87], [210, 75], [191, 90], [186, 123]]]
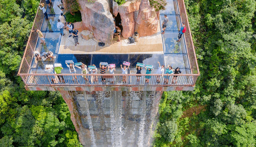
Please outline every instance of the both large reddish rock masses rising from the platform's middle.
[[[81, 9], [82, 23], [77, 23], [77, 27], [90, 30], [94, 33], [98, 41], [112, 43], [114, 19], [110, 13], [110, 0], [77, 0]], [[128, 0], [123, 5], [118, 5], [113, 0], [113, 14], [120, 14], [122, 19], [124, 38], [132, 36], [136, 30], [139, 36], [153, 35], [157, 32], [159, 23], [155, 9], [150, 7], [149, 0]], [[65, 0], [63, 0], [65, 8]], [[159, 15], [159, 14], [158, 14]], [[82, 24], [82, 25], [81, 25]]]

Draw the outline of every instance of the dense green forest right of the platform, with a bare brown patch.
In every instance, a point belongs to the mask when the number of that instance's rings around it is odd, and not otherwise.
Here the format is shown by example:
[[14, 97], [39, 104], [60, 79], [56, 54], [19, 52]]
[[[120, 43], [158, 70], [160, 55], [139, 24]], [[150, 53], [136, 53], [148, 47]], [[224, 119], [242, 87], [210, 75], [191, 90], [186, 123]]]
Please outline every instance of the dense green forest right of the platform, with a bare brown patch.
[[185, 5], [201, 76], [192, 92], [163, 94], [154, 146], [255, 147], [255, 1]]

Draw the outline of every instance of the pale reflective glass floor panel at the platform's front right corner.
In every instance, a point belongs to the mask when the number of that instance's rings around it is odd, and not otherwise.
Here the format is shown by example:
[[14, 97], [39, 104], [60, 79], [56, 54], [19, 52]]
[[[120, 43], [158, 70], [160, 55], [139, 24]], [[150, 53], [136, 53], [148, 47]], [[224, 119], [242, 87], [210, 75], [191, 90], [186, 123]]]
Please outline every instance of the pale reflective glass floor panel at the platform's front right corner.
[[172, 68], [189, 68], [188, 64], [188, 55], [184, 54], [165, 54], [164, 55], [165, 59], [165, 65], [171, 65]]

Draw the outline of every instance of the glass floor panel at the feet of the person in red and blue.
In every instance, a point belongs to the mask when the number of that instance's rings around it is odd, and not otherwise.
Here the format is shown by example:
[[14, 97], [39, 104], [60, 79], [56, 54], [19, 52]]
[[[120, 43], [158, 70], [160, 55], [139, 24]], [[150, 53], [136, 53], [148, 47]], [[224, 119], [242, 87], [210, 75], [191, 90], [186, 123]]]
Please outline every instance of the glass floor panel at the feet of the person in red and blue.
[[187, 54], [185, 49], [184, 36], [177, 42], [179, 33], [169, 33], [163, 34], [163, 51], [164, 53], [180, 53]]

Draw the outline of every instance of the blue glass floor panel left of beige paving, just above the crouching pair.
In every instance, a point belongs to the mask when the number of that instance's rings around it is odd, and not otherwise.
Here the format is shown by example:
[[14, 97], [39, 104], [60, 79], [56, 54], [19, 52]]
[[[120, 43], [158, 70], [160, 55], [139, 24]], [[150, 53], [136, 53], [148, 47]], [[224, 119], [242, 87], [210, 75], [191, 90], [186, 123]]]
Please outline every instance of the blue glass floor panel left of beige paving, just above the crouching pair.
[[41, 39], [38, 38], [37, 50], [40, 53], [51, 51], [53, 53], [57, 53], [60, 45], [60, 33], [43, 33], [44, 34], [44, 41], [46, 45], [40, 44]]

